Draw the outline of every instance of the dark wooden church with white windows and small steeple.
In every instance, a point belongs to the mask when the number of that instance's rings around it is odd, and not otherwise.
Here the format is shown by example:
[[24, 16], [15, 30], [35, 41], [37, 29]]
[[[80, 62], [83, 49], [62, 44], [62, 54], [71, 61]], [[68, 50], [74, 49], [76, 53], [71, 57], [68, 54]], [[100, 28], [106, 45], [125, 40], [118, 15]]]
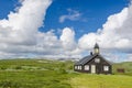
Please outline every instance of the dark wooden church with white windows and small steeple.
[[74, 65], [75, 72], [89, 74], [112, 74], [112, 65], [100, 55], [99, 45], [96, 43], [94, 53], [84, 57]]

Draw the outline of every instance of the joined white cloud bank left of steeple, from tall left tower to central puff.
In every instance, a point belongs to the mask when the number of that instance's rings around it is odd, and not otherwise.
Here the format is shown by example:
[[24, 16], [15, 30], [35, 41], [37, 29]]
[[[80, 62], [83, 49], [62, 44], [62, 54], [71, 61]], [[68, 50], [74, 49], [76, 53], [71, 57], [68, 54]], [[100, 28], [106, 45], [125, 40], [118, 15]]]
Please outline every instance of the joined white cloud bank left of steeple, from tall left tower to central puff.
[[74, 30], [65, 28], [61, 38], [54, 31], [38, 31], [51, 0], [20, 2], [22, 6], [16, 7], [16, 12], [10, 12], [8, 19], [0, 20], [0, 57], [74, 57], [79, 54]]

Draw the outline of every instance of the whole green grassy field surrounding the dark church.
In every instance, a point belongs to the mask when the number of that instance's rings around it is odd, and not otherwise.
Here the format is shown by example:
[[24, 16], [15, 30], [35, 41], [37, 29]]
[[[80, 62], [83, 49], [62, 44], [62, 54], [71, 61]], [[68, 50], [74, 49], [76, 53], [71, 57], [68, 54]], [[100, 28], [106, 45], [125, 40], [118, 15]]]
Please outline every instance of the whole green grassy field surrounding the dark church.
[[[47, 59], [0, 61], [0, 88], [132, 88], [132, 63], [113, 65], [114, 75], [75, 73], [73, 62]], [[116, 68], [125, 68], [119, 75]]]

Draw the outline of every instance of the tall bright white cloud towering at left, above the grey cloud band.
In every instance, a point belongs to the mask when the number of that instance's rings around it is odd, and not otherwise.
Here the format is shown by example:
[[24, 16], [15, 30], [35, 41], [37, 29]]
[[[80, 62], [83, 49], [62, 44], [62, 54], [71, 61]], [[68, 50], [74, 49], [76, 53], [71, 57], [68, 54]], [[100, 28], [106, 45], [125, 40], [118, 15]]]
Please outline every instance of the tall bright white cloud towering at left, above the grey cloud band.
[[23, 0], [18, 12], [10, 12], [0, 21], [0, 41], [11, 44], [35, 44], [37, 29], [42, 26], [51, 0]]

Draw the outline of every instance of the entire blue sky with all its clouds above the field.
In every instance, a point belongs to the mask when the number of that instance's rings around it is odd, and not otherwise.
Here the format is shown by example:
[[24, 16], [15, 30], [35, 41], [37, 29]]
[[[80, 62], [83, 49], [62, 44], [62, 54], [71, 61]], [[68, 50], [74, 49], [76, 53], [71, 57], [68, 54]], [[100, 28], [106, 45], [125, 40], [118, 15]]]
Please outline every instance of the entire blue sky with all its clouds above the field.
[[132, 61], [131, 21], [130, 0], [0, 0], [0, 54], [81, 57], [98, 42], [108, 58]]

